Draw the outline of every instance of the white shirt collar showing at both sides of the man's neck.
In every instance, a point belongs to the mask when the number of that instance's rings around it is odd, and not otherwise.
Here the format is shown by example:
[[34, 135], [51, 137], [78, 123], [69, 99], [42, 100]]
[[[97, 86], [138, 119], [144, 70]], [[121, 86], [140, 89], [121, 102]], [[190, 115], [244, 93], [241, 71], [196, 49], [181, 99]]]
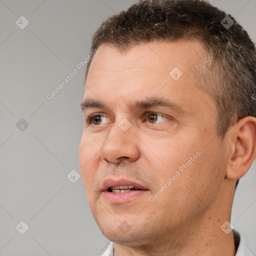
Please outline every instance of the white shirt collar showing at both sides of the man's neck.
[[[237, 248], [235, 256], [253, 256], [253, 253], [250, 252], [250, 250], [245, 245], [244, 239], [243, 239], [243, 236], [241, 235], [241, 233], [239, 233], [236, 230], [233, 230], [233, 233], [234, 233], [234, 237], [235, 237], [235, 243], [238, 244], [238, 248]], [[114, 244], [113, 244], [113, 242], [109, 243], [109, 245], [107, 246], [104, 253], [101, 254], [100, 256], [114, 256]]]

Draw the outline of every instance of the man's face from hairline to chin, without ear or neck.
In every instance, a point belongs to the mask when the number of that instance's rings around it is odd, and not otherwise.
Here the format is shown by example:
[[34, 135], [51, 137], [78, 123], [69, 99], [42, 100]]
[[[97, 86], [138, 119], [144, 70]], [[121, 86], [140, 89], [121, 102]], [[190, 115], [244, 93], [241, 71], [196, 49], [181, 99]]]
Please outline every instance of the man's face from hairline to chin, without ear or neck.
[[[126, 52], [102, 44], [91, 62], [83, 99], [105, 106], [84, 104], [79, 165], [93, 217], [114, 242], [159, 240], [212, 216], [226, 152], [216, 136], [215, 104], [195, 85], [200, 49], [192, 41], [150, 42]], [[134, 104], [149, 98], [171, 106]], [[106, 179], [145, 189], [102, 191]]]

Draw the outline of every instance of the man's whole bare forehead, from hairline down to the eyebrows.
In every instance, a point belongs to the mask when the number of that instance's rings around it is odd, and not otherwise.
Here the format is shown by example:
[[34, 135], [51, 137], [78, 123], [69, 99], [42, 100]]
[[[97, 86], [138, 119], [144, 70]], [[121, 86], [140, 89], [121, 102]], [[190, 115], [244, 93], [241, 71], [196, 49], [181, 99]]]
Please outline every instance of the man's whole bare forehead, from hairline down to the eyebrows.
[[[202, 107], [212, 111], [213, 101], [198, 90], [194, 78], [202, 52], [201, 43], [191, 40], [143, 43], [126, 51], [102, 44], [91, 62], [84, 98], [128, 104], [157, 95], [179, 102], [186, 109], [192, 106], [194, 111]], [[211, 109], [205, 109], [205, 101]]]

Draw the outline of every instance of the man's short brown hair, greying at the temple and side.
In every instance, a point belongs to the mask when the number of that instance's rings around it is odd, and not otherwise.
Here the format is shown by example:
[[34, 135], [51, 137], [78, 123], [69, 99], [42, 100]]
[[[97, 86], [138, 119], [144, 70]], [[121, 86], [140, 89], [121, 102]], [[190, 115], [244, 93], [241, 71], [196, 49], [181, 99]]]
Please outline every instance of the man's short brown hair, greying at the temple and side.
[[[150, 41], [201, 42], [205, 56], [194, 67], [196, 85], [214, 100], [216, 131], [223, 137], [239, 119], [256, 117], [255, 46], [235, 19], [226, 16], [203, 0], [142, 0], [102, 22], [93, 35], [90, 50], [93, 52], [102, 43], [125, 50]], [[234, 24], [227, 28], [221, 20]]]

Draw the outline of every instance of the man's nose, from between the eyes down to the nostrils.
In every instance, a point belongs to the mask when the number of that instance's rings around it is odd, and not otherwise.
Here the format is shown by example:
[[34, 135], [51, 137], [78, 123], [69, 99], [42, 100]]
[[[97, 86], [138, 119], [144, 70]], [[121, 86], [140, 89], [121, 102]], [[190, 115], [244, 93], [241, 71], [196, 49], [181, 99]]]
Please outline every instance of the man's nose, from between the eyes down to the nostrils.
[[131, 125], [124, 131], [115, 122], [99, 151], [101, 159], [111, 163], [119, 163], [123, 160], [137, 160], [140, 153], [138, 149], [138, 137], [134, 135], [134, 130]]

